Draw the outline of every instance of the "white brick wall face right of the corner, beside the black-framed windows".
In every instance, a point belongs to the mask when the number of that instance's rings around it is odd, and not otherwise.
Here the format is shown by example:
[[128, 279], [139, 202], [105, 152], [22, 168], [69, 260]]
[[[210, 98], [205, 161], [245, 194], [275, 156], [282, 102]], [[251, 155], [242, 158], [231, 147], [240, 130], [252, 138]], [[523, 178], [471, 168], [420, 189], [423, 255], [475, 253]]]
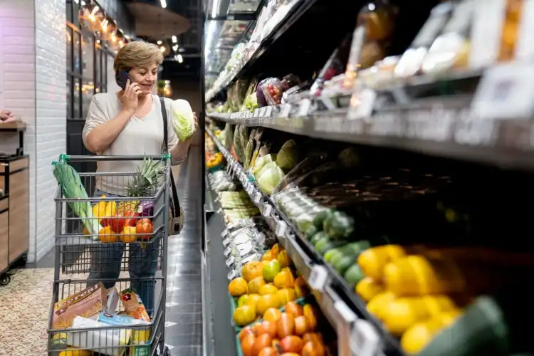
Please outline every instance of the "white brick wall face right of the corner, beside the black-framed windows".
[[66, 1], [36, 0], [36, 259], [53, 247], [56, 179], [66, 152]]

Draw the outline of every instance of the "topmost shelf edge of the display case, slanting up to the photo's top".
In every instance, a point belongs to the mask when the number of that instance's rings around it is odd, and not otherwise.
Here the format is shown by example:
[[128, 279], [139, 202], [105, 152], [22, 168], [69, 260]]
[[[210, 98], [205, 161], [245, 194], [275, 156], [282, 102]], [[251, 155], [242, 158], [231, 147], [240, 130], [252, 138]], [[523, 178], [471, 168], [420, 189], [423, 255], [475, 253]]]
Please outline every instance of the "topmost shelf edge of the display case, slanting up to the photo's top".
[[225, 90], [231, 83], [234, 82], [237, 78], [245, 75], [251, 68], [255, 65], [261, 56], [263, 56], [268, 48], [273, 44], [273, 42], [278, 41], [279, 38], [283, 37], [284, 33], [293, 26], [293, 24], [300, 19], [300, 16], [305, 14], [305, 11], [308, 11], [310, 7], [317, 0], [298, 0], [293, 4], [286, 16], [273, 27], [271, 33], [269, 33], [263, 41], [260, 43], [256, 51], [248, 58], [247, 61], [243, 61], [236, 65], [229, 75], [226, 76], [224, 80], [220, 83], [217, 88], [212, 88], [206, 92], [206, 103], [209, 103], [212, 99], [216, 97], [221, 91]]

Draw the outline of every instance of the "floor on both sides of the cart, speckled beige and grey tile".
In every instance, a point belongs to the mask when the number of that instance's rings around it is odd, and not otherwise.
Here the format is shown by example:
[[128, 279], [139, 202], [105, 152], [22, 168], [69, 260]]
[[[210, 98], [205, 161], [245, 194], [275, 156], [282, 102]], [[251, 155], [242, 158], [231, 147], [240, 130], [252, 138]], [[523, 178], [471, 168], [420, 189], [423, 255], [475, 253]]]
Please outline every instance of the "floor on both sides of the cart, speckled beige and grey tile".
[[[192, 148], [180, 169], [178, 190], [186, 214], [182, 234], [169, 237], [165, 343], [173, 356], [202, 352], [199, 155]], [[198, 194], [198, 195], [195, 195]], [[52, 296], [51, 252], [35, 265], [16, 271], [0, 287], [0, 356], [46, 355], [46, 325]]]

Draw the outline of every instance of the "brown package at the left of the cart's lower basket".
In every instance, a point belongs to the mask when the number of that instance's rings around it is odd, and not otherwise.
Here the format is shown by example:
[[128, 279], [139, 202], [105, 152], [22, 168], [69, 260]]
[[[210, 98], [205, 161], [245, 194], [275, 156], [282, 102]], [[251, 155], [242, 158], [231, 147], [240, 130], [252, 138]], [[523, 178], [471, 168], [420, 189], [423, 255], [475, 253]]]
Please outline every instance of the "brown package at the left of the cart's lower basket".
[[54, 304], [52, 328], [69, 328], [79, 316], [89, 318], [100, 313], [106, 303], [106, 290], [102, 283], [85, 288]]

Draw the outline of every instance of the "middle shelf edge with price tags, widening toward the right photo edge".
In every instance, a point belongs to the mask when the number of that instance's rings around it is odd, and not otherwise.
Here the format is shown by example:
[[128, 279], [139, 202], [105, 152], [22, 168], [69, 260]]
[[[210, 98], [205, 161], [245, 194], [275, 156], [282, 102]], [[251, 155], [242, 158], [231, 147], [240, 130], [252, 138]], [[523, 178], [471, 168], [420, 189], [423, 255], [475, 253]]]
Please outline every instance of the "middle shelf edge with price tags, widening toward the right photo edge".
[[[348, 108], [287, 115], [310, 103], [269, 106], [253, 112], [211, 113], [209, 117], [248, 127], [268, 127], [323, 140], [388, 147], [425, 155], [481, 162], [506, 169], [534, 169], [534, 120], [480, 120], [471, 100], [452, 98], [393, 105], [351, 118]], [[312, 105], [313, 106], [313, 105]]]

